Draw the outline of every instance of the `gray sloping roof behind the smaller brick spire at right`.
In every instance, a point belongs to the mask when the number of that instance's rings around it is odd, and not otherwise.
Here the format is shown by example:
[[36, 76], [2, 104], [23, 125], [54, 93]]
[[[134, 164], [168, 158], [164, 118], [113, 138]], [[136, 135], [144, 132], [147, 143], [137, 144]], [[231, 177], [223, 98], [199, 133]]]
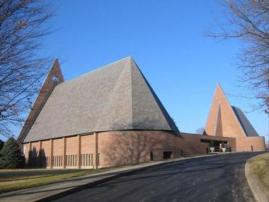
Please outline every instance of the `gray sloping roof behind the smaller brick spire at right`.
[[243, 111], [241, 111], [240, 108], [236, 106], [231, 106], [233, 109], [237, 119], [239, 120], [239, 123], [241, 124], [243, 130], [246, 133], [246, 136], [253, 137], [253, 136], [259, 136], [256, 130], [253, 128], [251, 123], [249, 122], [248, 118], [244, 115]]

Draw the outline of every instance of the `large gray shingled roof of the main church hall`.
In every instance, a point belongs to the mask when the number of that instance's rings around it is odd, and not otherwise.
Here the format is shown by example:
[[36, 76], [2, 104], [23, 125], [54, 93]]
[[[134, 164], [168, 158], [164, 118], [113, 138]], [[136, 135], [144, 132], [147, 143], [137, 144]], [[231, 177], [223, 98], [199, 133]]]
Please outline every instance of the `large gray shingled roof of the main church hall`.
[[132, 57], [55, 87], [23, 142], [108, 130], [178, 128]]

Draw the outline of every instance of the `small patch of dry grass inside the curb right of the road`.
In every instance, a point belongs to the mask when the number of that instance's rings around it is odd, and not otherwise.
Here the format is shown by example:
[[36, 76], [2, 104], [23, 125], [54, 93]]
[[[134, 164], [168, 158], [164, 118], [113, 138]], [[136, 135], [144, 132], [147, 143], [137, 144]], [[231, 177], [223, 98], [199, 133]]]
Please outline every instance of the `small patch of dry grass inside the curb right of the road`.
[[261, 183], [261, 188], [269, 193], [269, 152], [249, 161], [251, 173]]

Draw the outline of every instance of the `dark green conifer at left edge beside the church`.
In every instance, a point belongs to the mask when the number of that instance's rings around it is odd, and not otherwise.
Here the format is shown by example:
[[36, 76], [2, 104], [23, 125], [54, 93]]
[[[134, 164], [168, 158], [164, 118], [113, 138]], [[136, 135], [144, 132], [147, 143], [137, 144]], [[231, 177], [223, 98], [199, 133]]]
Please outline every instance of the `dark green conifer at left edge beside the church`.
[[0, 167], [6, 169], [20, 168], [23, 163], [21, 150], [16, 140], [11, 137], [0, 151]]

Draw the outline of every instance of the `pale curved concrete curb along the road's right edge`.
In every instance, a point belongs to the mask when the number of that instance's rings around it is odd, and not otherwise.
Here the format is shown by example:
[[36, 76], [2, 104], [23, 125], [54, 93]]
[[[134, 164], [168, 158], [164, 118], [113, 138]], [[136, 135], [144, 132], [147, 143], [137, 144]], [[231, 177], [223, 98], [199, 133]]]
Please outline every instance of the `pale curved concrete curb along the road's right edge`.
[[[255, 157], [258, 157], [255, 156]], [[246, 161], [245, 164], [245, 175], [246, 180], [248, 181], [248, 186], [251, 188], [251, 192], [253, 193], [253, 196], [257, 202], [268, 202], [268, 196], [266, 196], [265, 193], [263, 193], [258, 180], [251, 174], [251, 159], [255, 158], [251, 157]]]

